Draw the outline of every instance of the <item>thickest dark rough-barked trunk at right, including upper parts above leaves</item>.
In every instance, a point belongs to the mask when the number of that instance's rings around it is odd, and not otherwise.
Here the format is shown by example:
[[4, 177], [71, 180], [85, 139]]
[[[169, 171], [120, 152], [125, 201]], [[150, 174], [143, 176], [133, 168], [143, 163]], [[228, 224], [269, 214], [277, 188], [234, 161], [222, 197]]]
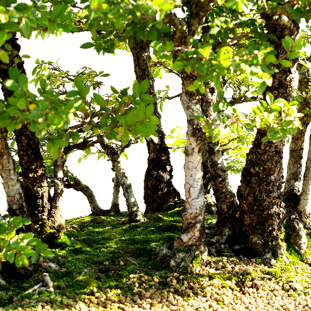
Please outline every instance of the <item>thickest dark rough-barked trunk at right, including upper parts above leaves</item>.
[[[287, 16], [277, 15], [273, 11], [262, 13], [267, 34], [275, 35], [271, 39], [276, 50], [276, 58], [281, 58], [286, 51], [282, 39], [290, 35], [295, 40], [299, 33], [299, 25], [289, 20]], [[267, 86], [274, 99], [283, 98], [288, 102], [292, 99], [295, 79], [295, 65], [298, 59], [293, 59], [292, 67], [276, 65], [278, 72], [273, 74], [272, 86]], [[264, 94], [265, 95], [265, 94]], [[241, 185], [238, 187], [239, 200], [239, 230], [246, 244], [258, 250], [266, 264], [271, 263], [271, 252], [266, 248], [276, 248], [281, 256], [282, 247], [279, 242], [278, 230], [285, 214], [282, 207], [283, 183], [283, 147], [284, 141], [262, 142], [267, 134], [267, 128], [257, 130], [253, 146], [248, 152], [246, 164], [241, 174]]]

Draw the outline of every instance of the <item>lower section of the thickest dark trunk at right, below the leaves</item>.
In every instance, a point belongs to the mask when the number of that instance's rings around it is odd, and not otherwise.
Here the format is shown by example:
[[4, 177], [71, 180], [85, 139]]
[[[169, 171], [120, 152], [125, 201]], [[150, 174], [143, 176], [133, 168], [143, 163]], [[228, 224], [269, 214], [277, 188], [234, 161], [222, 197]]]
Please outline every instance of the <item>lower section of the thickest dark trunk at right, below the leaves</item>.
[[279, 222], [285, 214], [282, 208], [284, 141], [262, 142], [266, 129], [258, 129], [250, 148], [238, 187], [238, 229], [247, 232], [248, 246], [264, 248], [279, 243]]

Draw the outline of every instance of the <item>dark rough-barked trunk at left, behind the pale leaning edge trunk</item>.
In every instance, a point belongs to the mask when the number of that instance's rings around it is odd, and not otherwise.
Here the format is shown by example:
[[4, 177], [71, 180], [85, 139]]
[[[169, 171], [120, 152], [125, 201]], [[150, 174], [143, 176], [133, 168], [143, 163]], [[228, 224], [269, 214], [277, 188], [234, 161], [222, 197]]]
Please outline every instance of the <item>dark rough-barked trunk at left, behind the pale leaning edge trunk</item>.
[[[11, 67], [17, 67], [21, 73], [26, 74], [24, 61], [19, 55], [21, 46], [17, 43], [16, 35], [13, 35], [6, 43], [10, 44], [12, 50], [9, 56], [9, 63], [0, 62], [0, 78], [2, 81], [9, 79], [8, 71]], [[2, 49], [4, 47], [2, 46]], [[16, 63], [15, 58], [19, 59]], [[13, 92], [7, 90], [3, 85], [2, 92], [5, 99], [12, 96]], [[21, 165], [22, 188], [24, 192], [27, 215], [33, 223], [35, 230], [41, 235], [46, 231], [49, 212], [52, 204], [48, 176], [45, 173], [45, 166], [39, 139], [31, 132], [26, 123], [14, 131], [17, 145], [19, 164]], [[53, 218], [53, 216], [51, 216]], [[53, 225], [52, 228], [53, 229]], [[58, 230], [59, 231], [59, 230]]]

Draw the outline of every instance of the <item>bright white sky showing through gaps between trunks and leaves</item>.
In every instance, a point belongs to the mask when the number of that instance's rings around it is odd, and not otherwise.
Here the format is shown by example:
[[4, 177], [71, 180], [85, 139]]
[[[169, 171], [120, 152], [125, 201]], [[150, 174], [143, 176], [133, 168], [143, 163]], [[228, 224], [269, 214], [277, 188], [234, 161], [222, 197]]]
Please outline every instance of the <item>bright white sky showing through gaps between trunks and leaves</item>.
[[[70, 70], [70, 73], [76, 73], [81, 67], [91, 67], [93, 70], [104, 71], [110, 73], [109, 77], [103, 77], [103, 83], [106, 85], [101, 90], [101, 95], [111, 93], [110, 85], [114, 86], [117, 90], [132, 86], [135, 80], [134, 67], [132, 61], [132, 54], [125, 51], [116, 51], [116, 55], [105, 54], [97, 55], [93, 49], [80, 49], [80, 45], [85, 42], [91, 41], [91, 34], [88, 32], [66, 34], [63, 33], [61, 37], [50, 35], [42, 41], [41, 38], [35, 40], [35, 36], [31, 39], [19, 39], [21, 45], [21, 55], [28, 54], [31, 58], [25, 59], [25, 69], [29, 81], [31, 80], [31, 72], [35, 67], [35, 60], [39, 58], [44, 61], [57, 61], [63, 70]], [[100, 80], [100, 79], [98, 79]], [[156, 79], [156, 90], [165, 90], [166, 85], [170, 86], [169, 96], [176, 95], [181, 92], [181, 81], [179, 77], [174, 74], [165, 74], [162, 72], [162, 80]], [[71, 89], [68, 84], [68, 90]], [[34, 84], [30, 85], [30, 90], [35, 91]], [[249, 105], [249, 104], [248, 104]], [[243, 108], [242, 108], [243, 109]], [[243, 110], [244, 111], [244, 110]], [[167, 100], [164, 103], [162, 115], [162, 127], [166, 135], [175, 126], [180, 126], [180, 132], [186, 132], [187, 123], [186, 117], [180, 104], [179, 98], [174, 100]], [[307, 134], [306, 137], [309, 137]], [[309, 140], [306, 139], [306, 144]], [[306, 148], [308, 150], [308, 148]], [[126, 171], [129, 181], [132, 183], [134, 195], [140, 210], [145, 210], [143, 200], [144, 189], [144, 175], [147, 168], [147, 147], [146, 143], [138, 143], [132, 145], [126, 150], [128, 154], [128, 161], [122, 159], [122, 165]], [[75, 151], [68, 157], [66, 165], [68, 169], [87, 184], [94, 192], [97, 202], [103, 209], [109, 209], [112, 200], [114, 172], [111, 170], [111, 162], [100, 159], [96, 161], [97, 155], [89, 156], [85, 161], [82, 160], [78, 164], [77, 159], [83, 154], [82, 151]], [[286, 171], [288, 160], [288, 146], [285, 147], [284, 152], [284, 170]], [[173, 184], [184, 198], [184, 155], [180, 150], [171, 153], [171, 162], [173, 165]], [[284, 172], [286, 176], [286, 172]], [[239, 185], [240, 176], [229, 174], [229, 179], [234, 192]], [[0, 178], [0, 213], [3, 215], [6, 212], [7, 202], [6, 195], [2, 186]], [[64, 196], [61, 201], [61, 211], [65, 219], [85, 216], [91, 213], [89, 203], [86, 197], [73, 189], [65, 189]], [[122, 189], [120, 190], [120, 209], [126, 211], [127, 207], [123, 197]]]

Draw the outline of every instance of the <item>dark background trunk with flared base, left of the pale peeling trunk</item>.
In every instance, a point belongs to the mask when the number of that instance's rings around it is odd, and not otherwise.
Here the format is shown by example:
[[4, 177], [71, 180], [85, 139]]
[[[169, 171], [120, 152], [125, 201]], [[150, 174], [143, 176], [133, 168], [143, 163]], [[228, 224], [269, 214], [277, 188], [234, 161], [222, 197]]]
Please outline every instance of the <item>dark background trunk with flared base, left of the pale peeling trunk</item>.
[[158, 142], [153, 139], [147, 140], [148, 166], [144, 179], [144, 201], [145, 213], [162, 211], [169, 203], [179, 202], [180, 193], [172, 183], [173, 167], [169, 158], [169, 149], [165, 143], [165, 133], [161, 126], [161, 115], [158, 111], [154, 78], [151, 68], [150, 44], [148, 42], [137, 42], [133, 40], [132, 56], [136, 80], [141, 83], [144, 79], [150, 82], [148, 94], [154, 99], [154, 113], [158, 119], [157, 125]]

